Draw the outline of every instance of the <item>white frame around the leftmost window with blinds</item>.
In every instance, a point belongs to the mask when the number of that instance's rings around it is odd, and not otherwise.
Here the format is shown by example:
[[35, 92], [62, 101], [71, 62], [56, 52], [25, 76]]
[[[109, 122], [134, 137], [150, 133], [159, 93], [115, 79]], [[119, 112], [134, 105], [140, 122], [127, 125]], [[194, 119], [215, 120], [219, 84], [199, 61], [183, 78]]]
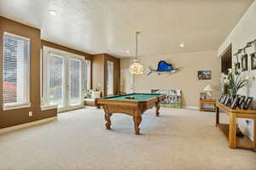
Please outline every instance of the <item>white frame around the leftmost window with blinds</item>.
[[[28, 49], [28, 56], [27, 56], [27, 75], [26, 75], [26, 102], [23, 103], [9, 103], [9, 104], [3, 104], [3, 111], [8, 110], [14, 110], [14, 109], [21, 109], [21, 108], [28, 108], [31, 107], [30, 103], [30, 64], [31, 64], [31, 40], [27, 37], [21, 37], [12, 33], [9, 33], [7, 31], [3, 32], [3, 58], [4, 58], [4, 36], [10, 36], [10, 37], [17, 37], [19, 39], [23, 39], [29, 42], [29, 49]], [[2, 64], [3, 65], [3, 64]]]

